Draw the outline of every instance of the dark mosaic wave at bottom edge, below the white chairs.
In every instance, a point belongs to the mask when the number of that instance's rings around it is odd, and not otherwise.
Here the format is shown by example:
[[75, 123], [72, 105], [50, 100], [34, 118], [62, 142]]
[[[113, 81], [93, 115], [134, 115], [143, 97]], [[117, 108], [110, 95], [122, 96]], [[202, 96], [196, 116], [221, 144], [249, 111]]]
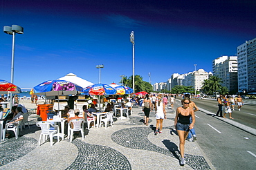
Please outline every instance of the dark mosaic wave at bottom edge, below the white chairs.
[[67, 169], [131, 169], [129, 160], [122, 153], [95, 144], [87, 144], [75, 139], [78, 155]]

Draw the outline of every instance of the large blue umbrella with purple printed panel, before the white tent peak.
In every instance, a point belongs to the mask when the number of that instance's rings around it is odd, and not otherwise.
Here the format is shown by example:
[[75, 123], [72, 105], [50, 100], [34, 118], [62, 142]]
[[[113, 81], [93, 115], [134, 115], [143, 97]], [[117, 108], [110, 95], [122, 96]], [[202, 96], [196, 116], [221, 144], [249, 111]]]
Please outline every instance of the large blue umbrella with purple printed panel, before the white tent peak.
[[36, 95], [74, 95], [82, 93], [83, 88], [65, 80], [48, 80], [33, 88]]

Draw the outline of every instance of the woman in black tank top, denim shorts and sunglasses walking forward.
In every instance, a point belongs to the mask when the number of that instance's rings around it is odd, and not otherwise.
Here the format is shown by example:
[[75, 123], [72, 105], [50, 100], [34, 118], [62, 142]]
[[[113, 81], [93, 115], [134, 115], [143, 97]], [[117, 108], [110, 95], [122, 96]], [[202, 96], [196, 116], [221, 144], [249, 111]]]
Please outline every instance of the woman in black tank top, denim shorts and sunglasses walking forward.
[[[185, 138], [188, 136], [190, 129], [194, 128], [194, 111], [189, 107], [190, 99], [185, 97], [181, 100], [183, 106], [176, 109], [176, 117], [174, 120], [175, 129], [179, 135], [179, 149], [181, 152], [181, 165], [185, 164], [184, 150], [185, 150]], [[192, 123], [190, 124], [190, 117], [192, 117]]]

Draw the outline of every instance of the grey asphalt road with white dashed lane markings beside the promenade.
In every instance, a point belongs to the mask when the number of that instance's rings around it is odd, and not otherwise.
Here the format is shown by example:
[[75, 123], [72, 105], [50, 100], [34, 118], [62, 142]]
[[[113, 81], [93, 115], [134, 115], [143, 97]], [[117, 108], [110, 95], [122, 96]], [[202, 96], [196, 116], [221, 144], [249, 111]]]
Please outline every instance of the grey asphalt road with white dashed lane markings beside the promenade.
[[[215, 100], [193, 101], [199, 108], [211, 111], [212, 113], [216, 113], [218, 109], [217, 101]], [[175, 106], [181, 106], [180, 103], [176, 101]], [[256, 109], [256, 107], [245, 105], [241, 108], [241, 111], [234, 111], [232, 117], [241, 124], [255, 128], [256, 117], [253, 109]], [[196, 142], [207, 158], [209, 158], [213, 167], [216, 169], [255, 169], [255, 135], [251, 135], [201, 111], [196, 112], [195, 129]]]

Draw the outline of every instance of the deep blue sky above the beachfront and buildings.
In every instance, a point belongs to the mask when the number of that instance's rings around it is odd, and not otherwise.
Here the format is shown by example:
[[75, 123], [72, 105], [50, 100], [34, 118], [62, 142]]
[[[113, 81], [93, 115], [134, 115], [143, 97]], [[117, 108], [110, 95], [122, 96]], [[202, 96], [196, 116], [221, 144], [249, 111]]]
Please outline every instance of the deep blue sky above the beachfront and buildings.
[[[24, 27], [15, 39], [15, 80], [33, 88], [75, 73], [98, 83], [119, 83], [135, 74], [166, 82], [173, 73], [203, 68], [236, 55], [237, 46], [256, 37], [255, 1], [71, 1], [1, 0], [1, 27]], [[0, 34], [1, 77], [10, 82], [12, 36]]]

